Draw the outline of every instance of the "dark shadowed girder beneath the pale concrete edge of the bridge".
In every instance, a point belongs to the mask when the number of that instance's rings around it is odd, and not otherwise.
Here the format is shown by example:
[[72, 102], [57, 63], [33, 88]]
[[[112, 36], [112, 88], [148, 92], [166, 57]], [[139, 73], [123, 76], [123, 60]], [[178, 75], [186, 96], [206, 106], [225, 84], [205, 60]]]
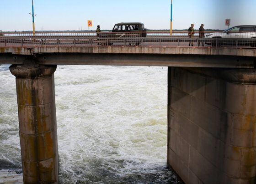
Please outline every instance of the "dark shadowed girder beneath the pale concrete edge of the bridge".
[[38, 53], [30, 55], [0, 54], [0, 64], [26, 64], [36, 60], [41, 65], [112, 65], [112, 66], [183, 66], [254, 68], [256, 57], [188, 55], [188, 54], [123, 54], [123, 53]]

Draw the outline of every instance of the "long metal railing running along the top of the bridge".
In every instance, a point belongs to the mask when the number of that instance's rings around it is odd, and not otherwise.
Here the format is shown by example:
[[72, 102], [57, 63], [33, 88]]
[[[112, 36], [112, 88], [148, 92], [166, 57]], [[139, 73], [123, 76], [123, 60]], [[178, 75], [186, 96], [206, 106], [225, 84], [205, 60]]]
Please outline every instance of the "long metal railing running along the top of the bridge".
[[[199, 45], [200, 43], [200, 45]], [[256, 32], [101, 32], [46, 31], [1, 32], [0, 47], [47, 47], [47, 46], [208, 46], [256, 48]]]

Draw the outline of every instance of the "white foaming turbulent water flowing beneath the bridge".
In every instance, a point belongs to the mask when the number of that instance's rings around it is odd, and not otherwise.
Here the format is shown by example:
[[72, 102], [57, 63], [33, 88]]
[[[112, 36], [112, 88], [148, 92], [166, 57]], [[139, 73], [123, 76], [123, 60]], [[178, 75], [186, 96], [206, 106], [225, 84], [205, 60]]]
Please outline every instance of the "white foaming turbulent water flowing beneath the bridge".
[[[8, 67], [0, 66], [0, 183], [22, 181]], [[179, 183], [166, 165], [166, 67], [58, 66], [54, 75], [59, 183]]]

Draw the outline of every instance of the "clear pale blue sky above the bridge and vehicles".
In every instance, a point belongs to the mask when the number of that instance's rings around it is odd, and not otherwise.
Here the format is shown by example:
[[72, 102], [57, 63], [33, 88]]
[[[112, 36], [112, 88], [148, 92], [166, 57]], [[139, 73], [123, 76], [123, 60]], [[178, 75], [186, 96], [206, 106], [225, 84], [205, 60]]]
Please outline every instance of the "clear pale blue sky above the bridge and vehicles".
[[[256, 25], [256, 0], [172, 0], [173, 29], [227, 29]], [[148, 29], [170, 29], [171, 0], [34, 0], [36, 31], [112, 30], [119, 22], [143, 22]], [[0, 30], [32, 31], [32, 0], [0, 0]]]

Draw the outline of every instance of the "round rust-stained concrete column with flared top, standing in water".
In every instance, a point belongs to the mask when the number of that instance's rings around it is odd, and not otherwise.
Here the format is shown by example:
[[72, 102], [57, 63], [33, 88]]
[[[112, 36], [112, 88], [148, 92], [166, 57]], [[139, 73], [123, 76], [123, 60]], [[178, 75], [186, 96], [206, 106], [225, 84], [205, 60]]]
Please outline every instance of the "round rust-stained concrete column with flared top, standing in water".
[[52, 66], [10, 66], [16, 77], [25, 184], [58, 183], [58, 142]]

